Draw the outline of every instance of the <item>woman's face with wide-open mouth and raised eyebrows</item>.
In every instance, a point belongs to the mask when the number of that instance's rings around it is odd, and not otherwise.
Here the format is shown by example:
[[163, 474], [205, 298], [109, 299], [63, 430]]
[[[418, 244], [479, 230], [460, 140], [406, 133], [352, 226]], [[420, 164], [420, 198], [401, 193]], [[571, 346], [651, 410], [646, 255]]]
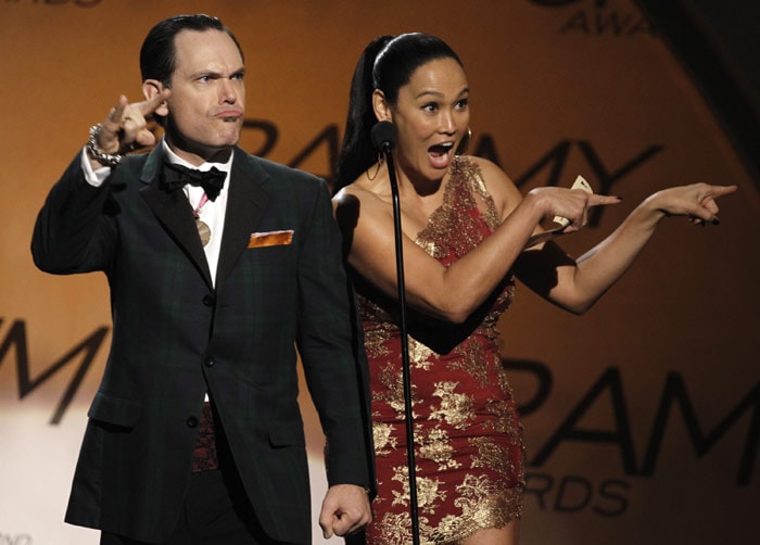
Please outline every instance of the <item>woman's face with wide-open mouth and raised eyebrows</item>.
[[413, 178], [443, 178], [470, 123], [465, 71], [454, 59], [423, 64], [398, 90], [390, 115], [400, 166]]

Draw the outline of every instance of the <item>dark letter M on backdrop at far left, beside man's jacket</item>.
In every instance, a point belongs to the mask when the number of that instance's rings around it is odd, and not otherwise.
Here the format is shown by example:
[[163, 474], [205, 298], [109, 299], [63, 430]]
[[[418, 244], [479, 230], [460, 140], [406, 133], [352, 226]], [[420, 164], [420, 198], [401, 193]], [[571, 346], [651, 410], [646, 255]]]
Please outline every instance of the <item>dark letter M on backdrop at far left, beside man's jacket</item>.
[[[2, 325], [2, 319], [0, 319], [0, 325]], [[50, 367], [39, 373], [39, 376], [33, 378], [29, 372], [26, 325], [23, 320], [15, 320], [0, 344], [0, 366], [5, 362], [5, 356], [11, 351], [11, 347], [14, 347], [16, 354], [16, 372], [18, 376], [18, 398], [23, 400], [66, 365], [77, 360], [79, 362], [71, 382], [64, 390], [61, 401], [50, 419], [50, 423], [56, 424], [61, 422], [66, 408], [68, 408], [68, 405], [72, 403], [74, 395], [79, 389], [81, 381], [85, 379], [85, 375], [92, 365], [96, 354], [103, 344], [103, 340], [107, 333], [107, 327], [103, 326], [97, 328], [89, 337], [69, 350]]]

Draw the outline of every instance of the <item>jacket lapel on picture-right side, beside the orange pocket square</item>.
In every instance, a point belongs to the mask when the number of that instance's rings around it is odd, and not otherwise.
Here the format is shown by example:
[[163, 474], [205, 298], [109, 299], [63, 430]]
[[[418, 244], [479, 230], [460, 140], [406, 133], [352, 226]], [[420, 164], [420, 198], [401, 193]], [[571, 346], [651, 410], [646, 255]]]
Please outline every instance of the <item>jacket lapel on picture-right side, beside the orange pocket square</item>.
[[263, 186], [269, 181], [269, 175], [255, 159], [240, 149], [235, 149], [232, 172], [230, 173], [229, 193], [221, 251], [216, 270], [216, 289], [220, 290], [227, 277], [248, 249], [251, 233], [264, 217], [268, 193]]

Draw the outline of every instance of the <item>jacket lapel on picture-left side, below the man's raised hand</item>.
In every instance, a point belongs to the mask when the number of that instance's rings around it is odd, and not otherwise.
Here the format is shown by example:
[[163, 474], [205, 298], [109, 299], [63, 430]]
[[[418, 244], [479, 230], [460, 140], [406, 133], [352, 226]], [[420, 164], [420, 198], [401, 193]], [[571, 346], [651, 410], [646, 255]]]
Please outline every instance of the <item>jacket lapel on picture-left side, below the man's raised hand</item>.
[[182, 191], [165, 191], [159, 183], [163, 164], [163, 150], [161, 145], [156, 145], [148, 155], [145, 165], [142, 168], [140, 181], [145, 183], [145, 187], [140, 189], [140, 194], [159, 218], [159, 221], [185, 250], [194, 266], [203, 275], [208, 287], [213, 288], [208, 263], [203, 252], [201, 239], [198, 236], [198, 228], [192, 217], [190, 203]]

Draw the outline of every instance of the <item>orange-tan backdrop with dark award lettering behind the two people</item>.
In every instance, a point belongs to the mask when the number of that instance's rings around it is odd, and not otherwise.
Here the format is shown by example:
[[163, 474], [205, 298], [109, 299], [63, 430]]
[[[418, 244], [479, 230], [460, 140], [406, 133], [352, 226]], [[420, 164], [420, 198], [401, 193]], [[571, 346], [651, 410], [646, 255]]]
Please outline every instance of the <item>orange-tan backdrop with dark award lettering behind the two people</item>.
[[[144, 34], [179, 12], [218, 15], [242, 42], [243, 147], [328, 178], [359, 52], [425, 30], [466, 64], [476, 151], [524, 190], [583, 174], [623, 197], [563, 241], [577, 254], [658, 188], [737, 183], [720, 227], [667, 221], [585, 317], [522, 288], [502, 331], [531, 461], [523, 544], [760, 543], [758, 186], [629, 0], [0, 2], [0, 543], [97, 543], [62, 518], [107, 289], [37, 271], [28, 245], [87, 128], [140, 97]], [[304, 407], [317, 509], [321, 435]]]

